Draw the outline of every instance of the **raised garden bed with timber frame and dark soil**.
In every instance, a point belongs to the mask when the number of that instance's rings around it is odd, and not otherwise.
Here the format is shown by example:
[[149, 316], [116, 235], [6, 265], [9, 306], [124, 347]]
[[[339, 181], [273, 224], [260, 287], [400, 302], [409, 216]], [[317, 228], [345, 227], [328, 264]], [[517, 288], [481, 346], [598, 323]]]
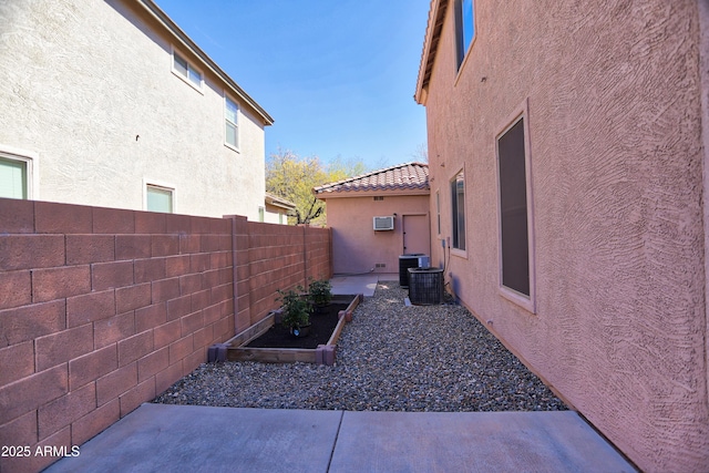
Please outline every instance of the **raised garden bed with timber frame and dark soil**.
[[310, 335], [300, 338], [291, 336], [288, 329], [280, 327], [279, 312], [274, 311], [226, 343], [217, 346], [217, 352], [213, 353], [210, 359], [335, 364], [337, 340], [345, 323], [352, 319], [352, 311], [361, 298], [362, 296], [333, 296], [322, 313], [310, 317]]

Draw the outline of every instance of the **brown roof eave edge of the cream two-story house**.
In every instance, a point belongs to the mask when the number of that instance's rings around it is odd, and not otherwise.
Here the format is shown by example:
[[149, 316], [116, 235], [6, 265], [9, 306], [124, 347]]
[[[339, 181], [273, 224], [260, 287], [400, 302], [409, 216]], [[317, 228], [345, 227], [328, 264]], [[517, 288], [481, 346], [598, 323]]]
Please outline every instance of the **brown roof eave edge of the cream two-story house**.
[[143, 7], [165, 30], [184, 48], [191, 51], [202, 64], [212, 71], [217, 78], [230, 89], [230, 91], [246, 104], [248, 104], [265, 125], [273, 125], [274, 119], [261, 107], [254, 99], [251, 99], [244, 90], [229, 78], [229, 75], [217, 65], [163, 10], [161, 10], [152, 0], [137, 0], [137, 4]]

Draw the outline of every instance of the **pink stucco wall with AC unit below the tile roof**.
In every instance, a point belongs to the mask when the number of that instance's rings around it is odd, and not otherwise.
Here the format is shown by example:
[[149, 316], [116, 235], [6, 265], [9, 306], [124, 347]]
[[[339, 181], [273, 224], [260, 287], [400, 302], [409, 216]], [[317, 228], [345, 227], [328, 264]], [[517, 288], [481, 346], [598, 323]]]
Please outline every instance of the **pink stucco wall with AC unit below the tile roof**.
[[[374, 200], [373, 195], [330, 197], [327, 210], [327, 224], [332, 228], [335, 274], [369, 273], [372, 268], [374, 273], [398, 273], [399, 256], [404, 254], [403, 216], [428, 215], [429, 196], [386, 195], [383, 200]], [[393, 214], [397, 214], [393, 230], [373, 230], [373, 217]]]

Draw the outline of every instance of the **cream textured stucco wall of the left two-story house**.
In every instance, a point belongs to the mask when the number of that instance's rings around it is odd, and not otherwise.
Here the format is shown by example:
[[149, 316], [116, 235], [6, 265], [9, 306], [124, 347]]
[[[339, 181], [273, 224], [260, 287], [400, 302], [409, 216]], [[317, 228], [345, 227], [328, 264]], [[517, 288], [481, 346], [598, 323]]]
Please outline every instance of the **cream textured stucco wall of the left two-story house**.
[[30, 198], [143, 209], [147, 179], [175, 188], [176, 213], [258, 219], [263, 122], [240, 106], [226, 147], [224, 85], [173, 74], [172, 45], [197, 62], [155, 31], [119, 0], [1, 2], [0, 147], [39, 156]]

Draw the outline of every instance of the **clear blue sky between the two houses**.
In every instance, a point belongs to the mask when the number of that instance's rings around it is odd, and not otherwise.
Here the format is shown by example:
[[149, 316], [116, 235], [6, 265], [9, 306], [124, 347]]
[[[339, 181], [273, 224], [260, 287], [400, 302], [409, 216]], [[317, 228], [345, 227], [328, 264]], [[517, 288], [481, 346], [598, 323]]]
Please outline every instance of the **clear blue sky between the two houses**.
[[370, 168], [420, 158], [429, 0], [155, 0], [275, 120], [280, 146]]

